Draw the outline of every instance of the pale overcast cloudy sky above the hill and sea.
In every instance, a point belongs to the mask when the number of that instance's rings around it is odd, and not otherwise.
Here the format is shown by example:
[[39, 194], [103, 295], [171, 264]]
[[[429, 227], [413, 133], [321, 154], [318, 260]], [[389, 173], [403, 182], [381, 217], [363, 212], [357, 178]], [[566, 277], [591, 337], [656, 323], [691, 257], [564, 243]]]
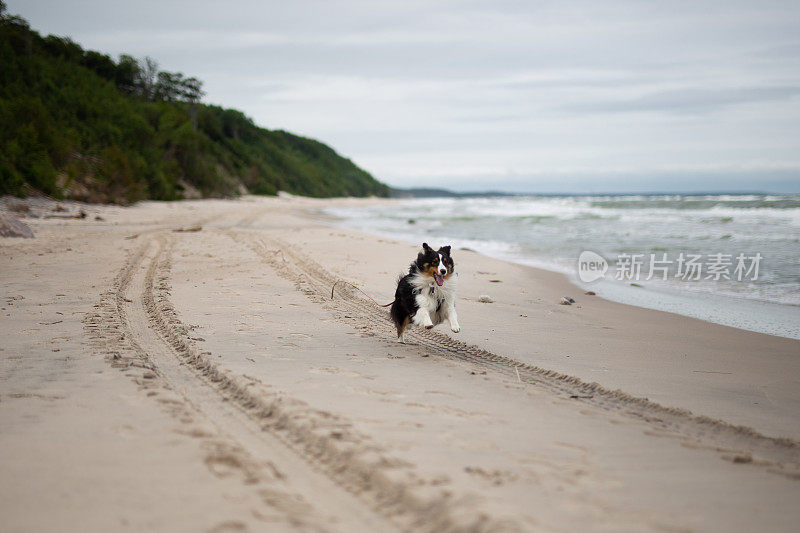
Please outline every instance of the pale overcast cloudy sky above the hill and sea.
[[7, 0], [396, 187], [800, 192], [800, 2]]

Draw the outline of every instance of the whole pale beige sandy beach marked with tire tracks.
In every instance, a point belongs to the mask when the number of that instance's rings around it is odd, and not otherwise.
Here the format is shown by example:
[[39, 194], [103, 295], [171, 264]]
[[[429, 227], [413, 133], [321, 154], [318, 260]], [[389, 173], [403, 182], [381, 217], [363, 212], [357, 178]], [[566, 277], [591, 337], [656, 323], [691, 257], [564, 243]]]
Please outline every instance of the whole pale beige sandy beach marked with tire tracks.
[[403, 345], [330, 289], [416, 248], [316, 214], [391, 201], [18, 202], [3, 531], [796, 530], [800, 341], [454, 250], [462, 331]]

